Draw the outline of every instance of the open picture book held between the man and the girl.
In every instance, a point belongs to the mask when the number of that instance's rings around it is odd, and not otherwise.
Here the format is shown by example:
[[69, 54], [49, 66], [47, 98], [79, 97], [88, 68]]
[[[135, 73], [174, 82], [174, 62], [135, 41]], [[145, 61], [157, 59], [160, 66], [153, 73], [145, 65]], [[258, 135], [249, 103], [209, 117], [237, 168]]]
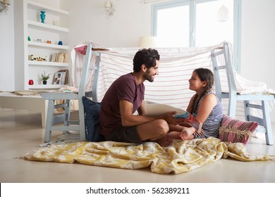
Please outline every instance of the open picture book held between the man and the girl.
[[146, 103], [145, 108], [146, 108], [145, 115], [148, 115], [148, 116], [157, 116], [164, 113], [176, 111], [176, 115], [174, 115], [174, 117], [183, 118], [184, 121], [188, 123], [188, 125], [196, 129], [196, 132], [198, 134], [200, 134], [200, 132], [202, 131], [202, 123], [199, 120], [197, 120], [195, 116], [188, 113], [188, 111], [186, 110], [183, 110], [181, 108], [175, 108], [173, 106], [169, 106], [166, 104], [160, 104], [160, 103]]

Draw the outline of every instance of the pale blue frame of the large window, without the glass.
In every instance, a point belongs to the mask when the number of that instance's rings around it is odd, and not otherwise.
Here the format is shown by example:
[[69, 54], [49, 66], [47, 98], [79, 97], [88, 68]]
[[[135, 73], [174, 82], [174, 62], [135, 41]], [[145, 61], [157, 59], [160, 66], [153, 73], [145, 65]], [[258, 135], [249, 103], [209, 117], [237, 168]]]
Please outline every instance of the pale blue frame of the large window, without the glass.
[[[218, 0], [173, 0], [152, 4], [152, 35], [157, 36], [157, 11], [176, 6], [189, 6], [189, 46], [195, 46], [196, 4]], [[241, 0], [233, 1], [233, 65], [240, 71]]]

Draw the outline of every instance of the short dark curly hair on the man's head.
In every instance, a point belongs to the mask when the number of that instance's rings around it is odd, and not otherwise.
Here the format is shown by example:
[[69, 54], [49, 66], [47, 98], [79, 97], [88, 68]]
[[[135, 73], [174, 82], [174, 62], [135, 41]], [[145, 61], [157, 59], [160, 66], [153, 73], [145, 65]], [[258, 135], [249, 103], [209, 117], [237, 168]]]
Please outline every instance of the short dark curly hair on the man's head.
[[133, 70], [140, 72], [142, 64], [145, 64], [146, 68], [154, 67], [157, 65], [156, 61], [159, 61], [159, 52], [156, 49], [140, 49], [135, 53]]

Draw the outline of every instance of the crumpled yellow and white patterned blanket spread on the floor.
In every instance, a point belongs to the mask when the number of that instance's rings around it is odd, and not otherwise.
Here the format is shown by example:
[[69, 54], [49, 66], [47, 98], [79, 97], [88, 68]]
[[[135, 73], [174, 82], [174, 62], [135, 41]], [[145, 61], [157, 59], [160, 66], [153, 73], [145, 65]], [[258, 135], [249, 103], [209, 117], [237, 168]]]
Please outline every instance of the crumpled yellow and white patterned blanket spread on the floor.
[[173, 146], [161, 147], [154, 142], [129, 144], [114, 141], [76, 142], [51, 145], [22, 158], [57, 163], [82, 163], [123, 169], [151, 167], [159, 174], [189, 172], [220, 158], [241, 161], [275, 160], [275, 155], [252, 155], [241, 143], [226, 144], [220, 139], [193, 139], [173, 141]]

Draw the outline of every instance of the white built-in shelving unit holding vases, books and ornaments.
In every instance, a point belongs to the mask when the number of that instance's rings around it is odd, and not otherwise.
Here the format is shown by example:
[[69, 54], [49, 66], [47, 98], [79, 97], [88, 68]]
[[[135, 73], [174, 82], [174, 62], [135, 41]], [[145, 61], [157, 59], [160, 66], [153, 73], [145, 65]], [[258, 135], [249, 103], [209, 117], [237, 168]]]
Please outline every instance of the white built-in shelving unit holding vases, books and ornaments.
[[[47, 3], [47, 1], [45, 1], [45, 3]], [[59, 89], [63, 87], [64, 84], [53, 84], [54, 74], [58, 70], [69, 70], [69, 12], [58, 8], [59, 4], [49, 6], [30, 0], [23, 0], [21, 4], [23, 7], [24, 67], [23, 69], [18, 68], [18, 74], [16, 75], [23, 75], [23, 87], [21, 84], [18, 84], [16, 87], [20, 87], [20, 89], [39, 90]], [[40, 11], [45, 11], [46, 17], [44, 23], [41, 22]], [[28, 37], [30, 37], [30, 40], [28, 40]], [[38, 42], [38, 40], [41, 40], [41, 42]], [[48, 44], [47, 41], [50, 41], [51, 44]], [[63, 45], [59, 45], [59, 41], [61, 41]], [[66, 53], [66, 63], [52, 62], [51, 57], [54, 53]], [[18, 55], [20, 56], [20, 54]], [[46, 56], [47, 61], [30, 61], [28, 58], [30, 55]], [[23, 73], [20, 73], [20, 70], [22, 70]], [[50, 79], [47, 81], [47, 84], [42, 84], [42, 72], [50, 74]], [[29, 80], [33, 80], [34, 84], [29, 85]], [[16, 83], [20, 83], [20, 80]]]

